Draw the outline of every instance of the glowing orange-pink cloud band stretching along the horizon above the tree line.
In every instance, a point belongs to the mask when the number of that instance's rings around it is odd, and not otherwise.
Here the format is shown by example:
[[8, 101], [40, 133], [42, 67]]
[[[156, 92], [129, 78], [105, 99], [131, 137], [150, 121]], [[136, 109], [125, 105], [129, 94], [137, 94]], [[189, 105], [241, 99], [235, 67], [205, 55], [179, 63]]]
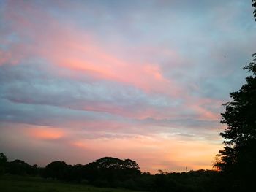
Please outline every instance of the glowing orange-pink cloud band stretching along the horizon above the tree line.
[[[8, 141], [8, 146], [15, 150], [20, 147], [38, 153], [40, 148], [40, 154], [50, 154], [50, 159], [61, 159], [68, 164], [87, 164], [104, 156], [131, 158], [138, 162], [143, 172], [151, 173], [158, 172], [158, 169], [183, 172], [186, 167], [188, 170], [211, 169], [214, 156], [223, 147], [221, 140], [211, 142], [177, 134], [118, 135], [102, 131], [102, 137], [86, 139], [85, 135], [100, 132], [85, 132], [73, 128], [64, 131], [61, 128], [20, 123], [4, 125], [5, 128], [0, 130], [0, 138]], [[104, 137], [105, 134], [113, 134], [113, 137]], [[51, 140], [56, 142], [49, 142]], [[67, 150], [69, 153], [64, 153]], [[44, 164], [49, 163], [48, 161]]]

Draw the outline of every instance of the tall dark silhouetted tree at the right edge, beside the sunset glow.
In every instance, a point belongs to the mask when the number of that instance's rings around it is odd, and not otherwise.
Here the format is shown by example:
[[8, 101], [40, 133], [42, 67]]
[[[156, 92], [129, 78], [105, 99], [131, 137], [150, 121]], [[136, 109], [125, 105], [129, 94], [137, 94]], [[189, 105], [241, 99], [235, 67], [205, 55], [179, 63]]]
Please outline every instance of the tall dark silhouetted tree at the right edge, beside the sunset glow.
[[214, 165], [229, 176], [231, 188], [236, 190], [252, 185], [256, 177], [256, 53], [252, 56], [253, 61], [244, 67], [252, 75], [246, 77], [239, 91], [230, 93], [233, 101], [224, 104], [221, 123], [227, 128], [220, 135], [225, 147]]

